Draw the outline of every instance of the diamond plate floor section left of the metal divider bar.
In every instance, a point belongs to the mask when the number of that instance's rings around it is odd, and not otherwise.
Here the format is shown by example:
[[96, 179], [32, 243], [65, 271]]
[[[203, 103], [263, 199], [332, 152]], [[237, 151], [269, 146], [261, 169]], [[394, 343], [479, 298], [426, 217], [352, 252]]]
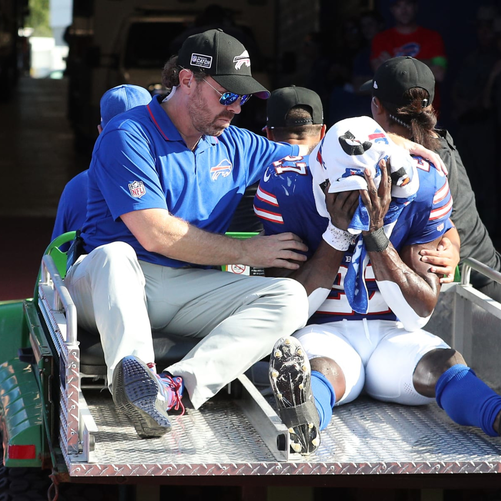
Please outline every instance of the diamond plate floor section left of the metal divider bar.
[[[104, 393], [104, 392], [103, 392]], [[172, 431], [161, 438], [140, 439], [127, 417], [117, 411], [111, 396], [86, 396], [98, 426], [92, 458], [99, 463], [242, 462], [273, 455], [231, 400], [213, 399], [199, 410], [171, 415]]]

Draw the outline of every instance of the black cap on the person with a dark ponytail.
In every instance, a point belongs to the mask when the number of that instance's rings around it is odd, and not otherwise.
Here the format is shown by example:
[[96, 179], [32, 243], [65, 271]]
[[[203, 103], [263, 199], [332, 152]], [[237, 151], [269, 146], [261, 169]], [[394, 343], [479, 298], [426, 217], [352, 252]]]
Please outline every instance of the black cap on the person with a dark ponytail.
[[421, 61], [409, 56], [399, 56], [385, 61], [374, 74], [374, 78], [360, 87], [361, 91], [372, 91], [372, 95], [392, 104], [395, 108], [409, 104], [404, 93], [414, 87], [424, 89], [429, 97], [423, 106], [432, 103], [435, 95], [435, 77]]

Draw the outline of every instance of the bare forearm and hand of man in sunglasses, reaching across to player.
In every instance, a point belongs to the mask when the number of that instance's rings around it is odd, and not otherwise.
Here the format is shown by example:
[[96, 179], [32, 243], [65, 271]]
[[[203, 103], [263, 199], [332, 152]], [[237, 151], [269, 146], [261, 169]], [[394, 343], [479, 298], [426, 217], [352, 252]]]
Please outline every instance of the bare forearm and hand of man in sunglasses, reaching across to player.
[[307, 246], [293, 233], [255, 236], [245, 240], [203, 231], [165, 209], [122, 214], [122, 221], [148, 252], [198, 265], [238, 263], [254, 267], [296, 270]]

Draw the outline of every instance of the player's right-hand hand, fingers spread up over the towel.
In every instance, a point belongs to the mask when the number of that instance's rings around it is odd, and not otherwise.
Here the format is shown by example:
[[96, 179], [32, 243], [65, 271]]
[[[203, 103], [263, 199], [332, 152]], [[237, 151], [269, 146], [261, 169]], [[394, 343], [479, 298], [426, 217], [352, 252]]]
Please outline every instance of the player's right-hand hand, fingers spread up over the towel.
[[[369, 233], [384, 225], [384, 216], [388, 212], [391, 202], [391, 176], [390, 162], [384, 159], [379, 162], [381, 168], [381, 182], [379, 188], [376, 188], [370, 169], [365, 169], [364, 176], [367, 181], [368, 190], [359, 190], [365, 208], [369, 213]], [[364, 232], [365, 233], [365, 232]]]

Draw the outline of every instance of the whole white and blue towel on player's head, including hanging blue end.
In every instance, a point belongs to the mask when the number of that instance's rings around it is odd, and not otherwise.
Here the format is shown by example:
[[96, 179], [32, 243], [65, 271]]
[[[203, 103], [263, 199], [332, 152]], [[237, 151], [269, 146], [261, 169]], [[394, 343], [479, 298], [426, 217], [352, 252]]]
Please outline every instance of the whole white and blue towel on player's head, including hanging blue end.
[[[416, 196], [419, 177], [409, 153], [397, 146], [372, 118], [355, 117], [334, 124], [310, 155], [313, 194], [320, 215], [329, 216], [323, 187], [331, 183], [329, 192], [367, 189], [364, 171], [369, 168], [376, 186], [381, 182], [379, 162], [390, 161], [392, 200], [384, 218], [388, 238], [402, 209]], [[365, 284], [365, 268], [369, 262], [360, 233], [369, 229], [369, 214], [362, 199], [348, 231], [356, 238], [355, 251], [344, 280], [344, 289], [351, 308], [367, 313], [369, 298]], [[356, 236], [358, 235], [358, 236]]]

